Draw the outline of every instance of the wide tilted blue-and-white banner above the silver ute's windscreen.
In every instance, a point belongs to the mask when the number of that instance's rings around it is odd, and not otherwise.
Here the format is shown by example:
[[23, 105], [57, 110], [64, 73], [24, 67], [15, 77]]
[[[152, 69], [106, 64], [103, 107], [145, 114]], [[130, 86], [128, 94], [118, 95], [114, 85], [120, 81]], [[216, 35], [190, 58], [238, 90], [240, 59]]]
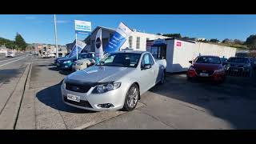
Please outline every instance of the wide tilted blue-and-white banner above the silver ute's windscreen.
[[112, 53], [118, 51], [132, 32], [133, 31], [124, 23], [120, 22], [118, 29], [114, 33], [113, 37], [110, 38], [110, 42], [106, 46], [105, 52]]

